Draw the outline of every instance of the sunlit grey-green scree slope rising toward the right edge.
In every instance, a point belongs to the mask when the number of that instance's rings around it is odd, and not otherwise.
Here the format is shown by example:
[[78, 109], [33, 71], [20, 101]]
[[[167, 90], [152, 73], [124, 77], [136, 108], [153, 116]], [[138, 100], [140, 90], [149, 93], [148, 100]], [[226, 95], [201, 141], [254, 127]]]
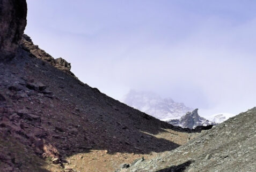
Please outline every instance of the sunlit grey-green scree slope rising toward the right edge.
[[122, 171], [256, 171], [256, 107]]

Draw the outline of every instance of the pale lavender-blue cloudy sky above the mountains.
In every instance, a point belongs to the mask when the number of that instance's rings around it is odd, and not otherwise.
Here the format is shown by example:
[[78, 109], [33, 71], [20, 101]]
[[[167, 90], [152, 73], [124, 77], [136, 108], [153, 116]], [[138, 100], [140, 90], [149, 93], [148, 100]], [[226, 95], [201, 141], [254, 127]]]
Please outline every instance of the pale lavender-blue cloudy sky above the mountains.
[[256, 106], [256, 1], [27, 0], [25, 33], [84, 83], [155, 92], [199, 114]]

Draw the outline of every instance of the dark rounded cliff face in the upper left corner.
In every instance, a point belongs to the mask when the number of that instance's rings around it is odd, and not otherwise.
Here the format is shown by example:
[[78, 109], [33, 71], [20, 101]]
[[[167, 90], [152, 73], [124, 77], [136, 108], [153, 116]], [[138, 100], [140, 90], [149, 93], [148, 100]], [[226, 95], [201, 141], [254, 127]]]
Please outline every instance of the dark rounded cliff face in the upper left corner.
[[25, 0], [0, 1], [0, 62], [12, 59], [27, 24]]

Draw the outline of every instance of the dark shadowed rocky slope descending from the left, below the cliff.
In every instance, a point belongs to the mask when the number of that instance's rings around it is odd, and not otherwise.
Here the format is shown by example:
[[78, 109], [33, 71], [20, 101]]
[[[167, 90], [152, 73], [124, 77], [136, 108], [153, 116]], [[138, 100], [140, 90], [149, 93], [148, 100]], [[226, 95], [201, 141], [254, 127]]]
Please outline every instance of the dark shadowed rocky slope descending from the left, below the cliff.
[[[36, 58], [23, 46], [14, 59], [0, 63], [0, 139], [6, 140], [6, 145], [0, 145], [4, 150], [11, 150], [9, 142], [17, 143], [12, 144], [14, 150], [18, 145], [25, 146], [26, 151], [40, 158], [57, 158], [61, 166], [54, 170], [60, 170], [73, 155], [86, 157], [92, 150], [100, 150], [97, 156], [101, 155], [101, 164], [107, 163], [103, 152], [106, 157], [119, 153], [123, 159], [129, 154], [131, 161], [137, 154], [177, 148], [192, 132], [201, 131], [155, 119], [66, 72]], [[1, 152], [0, 168], [26, 171], [31, 168], [27, 163], [37, 164], [16, 158], [18, 154]], [[122, 161], [112, 159], [109, 167], [100, 168], [114, 169]]]

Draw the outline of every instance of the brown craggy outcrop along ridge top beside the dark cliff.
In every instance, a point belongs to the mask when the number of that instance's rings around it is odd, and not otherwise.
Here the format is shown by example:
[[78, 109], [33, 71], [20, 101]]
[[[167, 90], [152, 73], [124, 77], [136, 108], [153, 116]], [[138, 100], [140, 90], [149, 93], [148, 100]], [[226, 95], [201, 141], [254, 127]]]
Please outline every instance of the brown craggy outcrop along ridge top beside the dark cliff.
[[70, 74], [71, 76], [75, 76], [70, 71], [71, 65], [69, 62], [67, 62], [63, 58], [54, 59], [52, 56], [50, 56], [50, 54], [40, 49], [38, 45], [34, 45], [31, 38], [26, 34], [22, 36], [22, 39], [20, 41], [20, 46], [24, 50], [30, 52], [32, 56], [35, 56], [36, 58], [39, 58], [39, 59], [42, 59], [43, 61], [48, 62], [50, 65], [60, 69], [61, 71], [64, 71], [65, 73]]

